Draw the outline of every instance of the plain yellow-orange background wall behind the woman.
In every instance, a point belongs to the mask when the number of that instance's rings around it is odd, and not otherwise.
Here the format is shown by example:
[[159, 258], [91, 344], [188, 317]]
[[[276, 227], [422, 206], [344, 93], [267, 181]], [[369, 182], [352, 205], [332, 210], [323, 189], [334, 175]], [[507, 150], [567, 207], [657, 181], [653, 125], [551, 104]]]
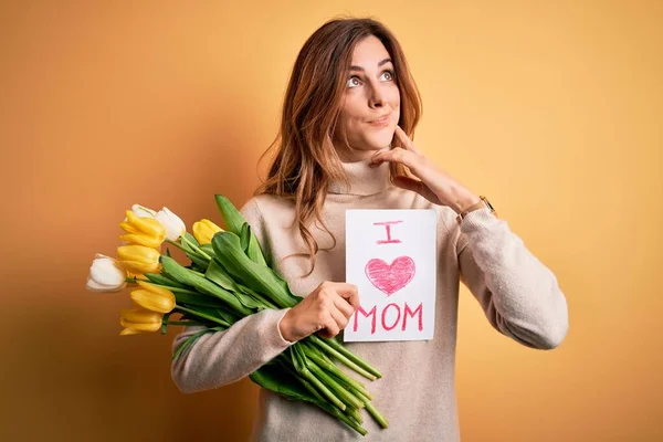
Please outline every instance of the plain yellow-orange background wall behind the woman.
[[393, 30], [424, 102], [415, 143], [491, 198], [568, 298], [567, 339], [537, 351], [463, 290], [463, 440], [656, 439], [662, 4], [2, 2], [0, 440], [246, 439], [256, 388], [181, 394], [175, 330], [119, 337], [127, 294], [85, 277], [134, 202], [190, 225], [219, 220], [214, 192], [251, 196], [295, 56], [339, 13]]

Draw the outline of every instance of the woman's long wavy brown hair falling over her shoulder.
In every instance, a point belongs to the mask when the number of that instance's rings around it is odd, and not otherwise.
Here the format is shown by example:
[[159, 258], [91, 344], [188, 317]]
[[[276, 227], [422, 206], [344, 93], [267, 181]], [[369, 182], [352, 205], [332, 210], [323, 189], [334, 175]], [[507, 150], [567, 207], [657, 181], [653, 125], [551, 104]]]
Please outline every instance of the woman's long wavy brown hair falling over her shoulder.
[[[281, 129], [261, 157], [262, 160], [276, 148], [266, 180], [255, 194], [267, 193], [294, 200], [295, 222], [308, 249], [307, 253], [295, 255], [309, 256], [312, 265], [306, 276], [313, 272], [319, 250], [308, 230], [314, 218], [332, 235], [336, 245], [336, 239], [322, 220], [320, 212], [329, 182], [348, 182], [333, 138], [352, 52], [359, 41], [370, 35], [378, 38], [391, 55], [401, 99], [398, 124], [406, 134], [413, 136], [421, 117], [421, 97], [400, 44], [378, 21], [341, 18], [323, 24], [304, 43], [287, 85]], [[397, 175], [407, 175], [407, 171], [402, 166], [391, 164], [392, 181]]]

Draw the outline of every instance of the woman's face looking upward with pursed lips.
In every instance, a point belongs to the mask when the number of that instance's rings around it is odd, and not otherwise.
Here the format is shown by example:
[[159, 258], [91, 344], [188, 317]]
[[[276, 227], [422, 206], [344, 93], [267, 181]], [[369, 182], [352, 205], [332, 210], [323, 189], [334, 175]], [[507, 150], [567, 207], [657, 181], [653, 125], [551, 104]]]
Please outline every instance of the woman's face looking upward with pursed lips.
[[344, 161], [368, 159], [389, 146], [400, 118], [400, 93], [394, 67], [382, 42], [371, 35], [352, 52], [339, 125], [354, 152], [336, 143]]

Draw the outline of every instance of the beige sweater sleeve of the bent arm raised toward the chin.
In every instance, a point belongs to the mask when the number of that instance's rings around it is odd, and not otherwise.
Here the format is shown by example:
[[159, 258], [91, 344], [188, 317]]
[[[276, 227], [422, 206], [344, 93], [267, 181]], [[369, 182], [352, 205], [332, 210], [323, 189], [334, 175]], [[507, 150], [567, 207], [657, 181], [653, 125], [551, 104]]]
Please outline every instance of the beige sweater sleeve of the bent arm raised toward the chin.
[[568, 330], [568, 308], [556, 276], [488, 209], [461, 222], [461, 281], [499, 333], [532, 348], [552, 349]]

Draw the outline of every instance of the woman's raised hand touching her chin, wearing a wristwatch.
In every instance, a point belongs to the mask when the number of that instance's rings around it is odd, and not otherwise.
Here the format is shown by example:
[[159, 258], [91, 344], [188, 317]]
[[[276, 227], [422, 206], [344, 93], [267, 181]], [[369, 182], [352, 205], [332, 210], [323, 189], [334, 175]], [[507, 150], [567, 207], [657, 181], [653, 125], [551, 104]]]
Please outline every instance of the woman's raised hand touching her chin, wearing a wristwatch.
[[396, 126], [394, 136], [401, 147], [381, 150], [370, 160], [371, 166], [379, 166], [385, 161], [400, 162], [419, 178], [397, 177], [396, 186], [412, 190], [434, 204], [449, 206], [456, 213], [480, 201], [477, 196], [425, 158], [399, 126]]

